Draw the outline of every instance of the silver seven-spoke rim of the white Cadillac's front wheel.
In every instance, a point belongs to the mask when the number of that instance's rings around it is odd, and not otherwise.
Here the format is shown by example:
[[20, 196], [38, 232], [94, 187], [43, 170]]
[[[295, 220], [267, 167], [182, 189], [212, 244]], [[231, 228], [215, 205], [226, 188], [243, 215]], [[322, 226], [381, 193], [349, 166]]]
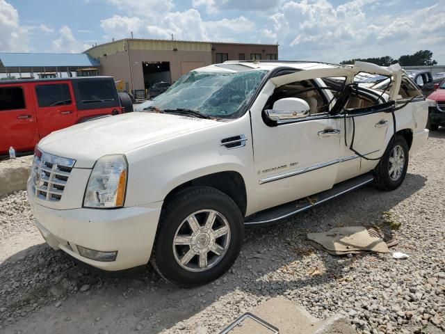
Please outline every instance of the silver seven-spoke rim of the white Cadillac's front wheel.
[[203, 209], [181, 222], [173, 238], [173, 254], [187, 271], [206, 271], [223, 259], [230, 244], [230, 226], [223, 214]]

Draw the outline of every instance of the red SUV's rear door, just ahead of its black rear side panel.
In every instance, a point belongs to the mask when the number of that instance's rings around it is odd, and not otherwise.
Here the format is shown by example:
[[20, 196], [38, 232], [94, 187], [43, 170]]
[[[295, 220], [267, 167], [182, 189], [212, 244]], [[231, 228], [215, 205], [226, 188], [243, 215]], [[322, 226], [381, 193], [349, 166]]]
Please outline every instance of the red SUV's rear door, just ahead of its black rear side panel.
[[39, 82], [33, 88], [40, 138], [76, 123], [70, 81]]

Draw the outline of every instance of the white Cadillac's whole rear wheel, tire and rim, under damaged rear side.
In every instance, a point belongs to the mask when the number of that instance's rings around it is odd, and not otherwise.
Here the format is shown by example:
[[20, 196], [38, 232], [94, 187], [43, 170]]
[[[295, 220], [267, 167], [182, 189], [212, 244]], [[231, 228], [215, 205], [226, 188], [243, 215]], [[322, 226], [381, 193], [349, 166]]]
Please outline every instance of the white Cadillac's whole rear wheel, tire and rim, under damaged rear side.
[[396, 135], [391, 143], [374, 170], [375, 185], [382, 190], [394, 190], [403, 183], [410, 159], [410, 150], [403, 136]]

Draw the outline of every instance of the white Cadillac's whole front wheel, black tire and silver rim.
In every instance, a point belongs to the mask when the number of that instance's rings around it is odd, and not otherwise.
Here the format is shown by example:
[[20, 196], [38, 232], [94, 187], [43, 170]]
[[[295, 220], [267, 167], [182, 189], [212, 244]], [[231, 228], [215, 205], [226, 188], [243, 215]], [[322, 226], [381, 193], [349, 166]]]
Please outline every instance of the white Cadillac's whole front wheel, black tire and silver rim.
[[189, 188], [165, 203], [152, 264], [165, 280], [203, 285], [232, 267], [243, 239], [243, 216], [229, 196], [209, 186]]

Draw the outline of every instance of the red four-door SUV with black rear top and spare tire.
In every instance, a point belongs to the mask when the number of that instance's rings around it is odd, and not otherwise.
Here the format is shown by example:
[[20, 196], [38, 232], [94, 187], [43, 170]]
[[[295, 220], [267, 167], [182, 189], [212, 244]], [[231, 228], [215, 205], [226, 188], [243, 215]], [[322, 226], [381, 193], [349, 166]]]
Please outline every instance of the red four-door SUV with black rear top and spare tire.
[[58, 129], [129, 111], [131, 99], [112, 77], [0, 81], [0, 156], [10, 146], [31, 152]]

